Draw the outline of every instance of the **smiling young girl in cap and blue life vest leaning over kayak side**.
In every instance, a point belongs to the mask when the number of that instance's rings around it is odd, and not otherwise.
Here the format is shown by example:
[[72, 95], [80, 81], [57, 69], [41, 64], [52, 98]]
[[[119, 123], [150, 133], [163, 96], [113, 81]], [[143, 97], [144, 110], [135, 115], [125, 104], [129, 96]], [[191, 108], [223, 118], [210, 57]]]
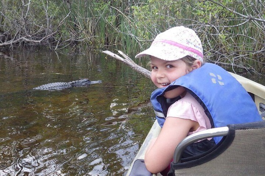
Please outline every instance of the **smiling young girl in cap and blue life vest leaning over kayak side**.
[[[227, 112], [219, 115], [219, 112], [215, 112], [215, 107], [220, 109], [225, 106], [224, 104], [227, 104], [225, 101], [230, 101], [231, 97], [224, 98], [224, 102], [218, 101], [217, 97], [220, 92], [227, 94], [223, 91], [225, 86], [231, 84], [231, 87], [234, 87], [235, 85], [233, 78], [230, 78], [232, 76], [226, 71], [222, 71], [217, 65], [203, 64], [201, 41], [193, 30], [184, 26], [173, 27], [158, 34], [150, 48], [136, 55], [136, 58], [145, 55], [150, 56], [151, 79], [158, 87], [152, 93], [151, 101], [155, 111], [160, 114], [156, 113], [162, 130], [158, 138], [148, 147], [144, 160], [151, 173], [162, 172], [161, 174], [167, 174], [165, 169], [173, 159], [174, 150], [186, 136], [197, 131], [226, 126], [231, 123], [230, 117], [224, 118], [225, 122], [219, 123], [219, 119], [223, 115], [227, 116]], [[210, 71], [208, 72], [208, 70]], [[224, 82], [228, 78], [229, 82]], [[207, 85], [200, 86], [200, 84]], [[208, 85], [215, 87], [210, 88]], [[248, 113], [247, 111], [254, 112], [252, 113], [254, 118], [251, 121], [261, 120], [250, 96], [245, 94], [246, 91], [244, 92], [240, 85], [236, 84], [236, 87], [237, 89], [233, 89], [232, 92], [243, 92], [243, 96], [246, 97], [244, 98], [247, 102], [245, 108], [250, 108], [246, 110], [246, 113]], [[203, 93], [204, 89], [205, 93]], [[238, 102], [242, 101], [241, 96], [236, 98]], [[228, 108], [227, 111], [232, 112], [234, 110]], [[166, 118], [163, 118], [163, 115]], [[247, 119], [244, 120], [242, 115], [249, 114], [238, 115], [241, 117], [239, 122], [248, 121]], [[232, 120], [232, 123], [238, 123], [237, 119], [239, 118]], [[219, 142], [220, 140], [207, 139], [197, 144], [194, 143], [187, 148], [183, 157], [201, 154], [216, 145], [216, 141]], [[163, 170], [165, 170], [164, 173]]]

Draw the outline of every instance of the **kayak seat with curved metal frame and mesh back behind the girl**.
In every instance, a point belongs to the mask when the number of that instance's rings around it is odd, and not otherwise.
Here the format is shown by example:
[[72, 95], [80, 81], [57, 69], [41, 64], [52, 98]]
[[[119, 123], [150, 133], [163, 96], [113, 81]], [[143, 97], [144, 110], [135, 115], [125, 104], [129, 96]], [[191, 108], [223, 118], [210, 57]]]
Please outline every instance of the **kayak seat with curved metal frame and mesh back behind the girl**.
[[[181, 159], [185, 147], [197, 140], [224, 136], [207, 152]], [[177, 146], [169, 176], [265, 175], [265, 121], [231, 124], [187, 136]]]

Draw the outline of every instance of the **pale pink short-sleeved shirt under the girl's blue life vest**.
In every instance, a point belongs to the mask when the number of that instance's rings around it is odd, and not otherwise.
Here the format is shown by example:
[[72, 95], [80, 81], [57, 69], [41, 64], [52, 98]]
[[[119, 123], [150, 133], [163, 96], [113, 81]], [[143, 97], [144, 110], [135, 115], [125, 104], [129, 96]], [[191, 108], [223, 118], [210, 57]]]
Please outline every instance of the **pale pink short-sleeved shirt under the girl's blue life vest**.
[[185, 97], [173, 103], [168, 108], [167, 117], [178, 117], [197, 121], [200, 127], [196, 131], [188, 132], [188, 136], [198, 131], [211, 128], [209, 118], [206, 116], [204, 109], [190, 93], [186, 93]]

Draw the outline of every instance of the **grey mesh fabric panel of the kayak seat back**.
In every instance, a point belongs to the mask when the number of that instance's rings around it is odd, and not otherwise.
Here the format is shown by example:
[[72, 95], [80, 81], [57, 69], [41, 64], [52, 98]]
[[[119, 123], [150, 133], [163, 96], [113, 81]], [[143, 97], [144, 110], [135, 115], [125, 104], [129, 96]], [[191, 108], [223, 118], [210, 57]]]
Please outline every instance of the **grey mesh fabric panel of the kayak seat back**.
[[258, 124], [258, 128], [229, 126], [229, 133], [222, 141], [227, 146], [221, 144], [200, 159], [176, 164], [175, 175], [265, 175], [264, 122], [248, 124], [250, 127]]

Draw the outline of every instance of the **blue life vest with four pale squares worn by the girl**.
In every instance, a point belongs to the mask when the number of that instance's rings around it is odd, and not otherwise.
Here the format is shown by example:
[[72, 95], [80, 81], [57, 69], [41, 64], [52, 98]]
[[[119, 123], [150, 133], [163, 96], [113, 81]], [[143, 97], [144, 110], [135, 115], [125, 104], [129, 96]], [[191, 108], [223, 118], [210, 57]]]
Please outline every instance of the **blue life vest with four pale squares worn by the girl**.
[[[166, 99], [168, 90], [183, 86], [202, 105], [212, 128], [228, 124], [262, 121], [257, 107], [243, 86], [226, 70], [216, 64], [205, 63], [168, 87], [158, 88], [151, 94], [151, 102], [159, 125], [162, 127], [168, 107], [177, 101]], [[214, 137], [217, 144], [222, 137]]]

